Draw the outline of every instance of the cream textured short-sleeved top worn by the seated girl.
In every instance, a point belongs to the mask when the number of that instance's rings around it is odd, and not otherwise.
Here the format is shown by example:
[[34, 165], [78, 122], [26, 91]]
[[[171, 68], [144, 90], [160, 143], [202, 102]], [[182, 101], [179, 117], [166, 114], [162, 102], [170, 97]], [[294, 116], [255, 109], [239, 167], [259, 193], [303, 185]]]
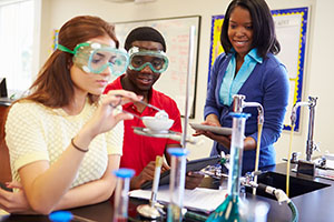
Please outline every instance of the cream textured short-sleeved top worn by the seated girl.
[[[51, 109], [36, 102], [13, 104], [6, 122], [13, 180], [20, 181], [18, 170], [26, 164], [40, 160], [55, 163], [96, 109], [97, 105], [87, 101], [79, 114], [69, 115], [62, 109]], [[89, 144], [71, 188], [100, 179], [107, 169], [108, 154], [122, 154], [122, 122], [109, 132], [97, 135]]]

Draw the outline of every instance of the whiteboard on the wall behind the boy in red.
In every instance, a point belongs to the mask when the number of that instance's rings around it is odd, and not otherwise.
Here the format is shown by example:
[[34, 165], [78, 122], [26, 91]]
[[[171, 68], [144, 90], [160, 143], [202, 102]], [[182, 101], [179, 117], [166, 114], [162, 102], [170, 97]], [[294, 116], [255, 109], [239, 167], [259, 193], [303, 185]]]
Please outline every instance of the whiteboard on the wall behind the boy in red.
[[165, 38], [167, 57], [169, 59], [168, 69], [161, 73], [160, 79], [155, 83], [154, 89], [167, 94], [174, 99], [178, 105], [181, 115], [185, 114], [186, 105], [186, 82], [188, 73], [188, 51], [190, 27], [195, 26], [194, 41], [194, 62], [190, 74], [189, 85], [189, 118], [195, 117], [196, 101], [196, 73], [197, 73], [197, 53], [199, 41], [200, 17], [178, 17], [158, 20], [130, 21], [115, 23], [116, 34], [124, 48], [127, 34], [136, 27], [154, 27]]

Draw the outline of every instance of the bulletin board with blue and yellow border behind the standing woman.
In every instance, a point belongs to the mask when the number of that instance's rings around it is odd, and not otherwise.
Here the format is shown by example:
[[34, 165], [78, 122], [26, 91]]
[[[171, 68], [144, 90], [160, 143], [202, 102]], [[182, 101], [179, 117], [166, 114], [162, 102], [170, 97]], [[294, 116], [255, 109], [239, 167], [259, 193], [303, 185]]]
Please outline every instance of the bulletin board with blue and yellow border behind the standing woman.
[[[285, 64], [289, 77], [289, 97], [284, 119], [284, 130], [291, 130], [289, 117], [293, 105], [302, 100], [303, 94], [308, 8], [272, 10], [272, 14], [277, 40], [281, 43], [281, 52], [277, 54], [277, 58]], [[212, 19], [208, 81], [215, 59], [224, 51], [220, 44], [223, 21], [224, 16], [214, 16]], [[299, 130], [299, 119], [301, 109], [297, 110], [295, 131]]]

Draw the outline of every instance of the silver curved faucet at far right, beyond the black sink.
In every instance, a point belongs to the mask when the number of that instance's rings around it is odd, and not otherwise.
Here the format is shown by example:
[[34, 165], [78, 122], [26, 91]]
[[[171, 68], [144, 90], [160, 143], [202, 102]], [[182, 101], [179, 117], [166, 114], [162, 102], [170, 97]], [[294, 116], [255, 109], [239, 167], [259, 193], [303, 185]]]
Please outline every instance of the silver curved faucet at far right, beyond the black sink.
[[308, 97], [307, 102], [297, 102], [293, 107], [291, 122], [292, 125], [296, 123], [296, 113], [298, 107], [308, 107], [310, 108], [310, 117], [308, 117], [308, 134], [306, 141], [306, 161], [311, 161], [313, 150], [317, 150], [317, 145], [313, 141], [313, 132], [314, 132], [314, 115], [315, 115], [315, 105], [316, 105], [317, 97]]

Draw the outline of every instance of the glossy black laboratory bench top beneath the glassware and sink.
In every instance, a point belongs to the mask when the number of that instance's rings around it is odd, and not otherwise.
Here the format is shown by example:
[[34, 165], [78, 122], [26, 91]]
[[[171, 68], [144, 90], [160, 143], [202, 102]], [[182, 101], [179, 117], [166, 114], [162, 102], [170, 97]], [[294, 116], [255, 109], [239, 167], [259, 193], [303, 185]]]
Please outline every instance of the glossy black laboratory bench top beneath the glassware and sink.
[[[293, 165], [292, 165], [293, 167]], [[285, 188], [284, 174], [286, 172], [286, 163], [276, 165], [274, 172], [264, 173], [264, 176], [258, 176], [258, 181], [273, 183], [272, 185]], [[209, 179], [210, 180], [210, 179]], [[208, 181], [205, 180], [204, 183]], [[312, 191], [314, 190], [314, 191]], [[321, 178], [305, 178], [296, 173], [291, 173], [291, 200], [296, 205], [299, 213], [301, 222], [326, 222], [334, 220], [334, 181]], [[254, 196], [252, 192], [246, 192], [247, 200], [264, 201], [269, 204], [269, 212], [267, 221], [287, 222], [292, 219], [291, 209], [286, 203], [279, 204], [272, 198], [264, 198], [262, 194]], [[140, 221], [136, 213], [136, 208], [139, 204], [147, 203], [147, 201], [130, 199], [129, 201], [129, 216], [132, 221]], [[205, 204], [205, 203], [204, 203]], [[112, 201], [106, 201], [99, 204], [82, 206], [70, 210], [77, 222], [92, 222], [92, 221], [111, 221], [112, 219]], [[46, 222], [48, 216], [42, 215], [2, 215], [0, 222]]]

